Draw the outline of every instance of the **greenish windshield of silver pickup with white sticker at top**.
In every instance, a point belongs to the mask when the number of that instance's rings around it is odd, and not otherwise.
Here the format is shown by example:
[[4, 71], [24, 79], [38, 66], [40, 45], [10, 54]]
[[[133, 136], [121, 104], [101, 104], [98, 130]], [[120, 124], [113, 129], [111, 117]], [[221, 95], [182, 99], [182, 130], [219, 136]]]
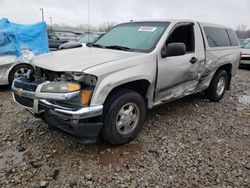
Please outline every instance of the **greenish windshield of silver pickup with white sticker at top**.
[[149, 52], [158, 43], [168, 22], [131, 22], [118, 25], [93, 46], [116, 50]]

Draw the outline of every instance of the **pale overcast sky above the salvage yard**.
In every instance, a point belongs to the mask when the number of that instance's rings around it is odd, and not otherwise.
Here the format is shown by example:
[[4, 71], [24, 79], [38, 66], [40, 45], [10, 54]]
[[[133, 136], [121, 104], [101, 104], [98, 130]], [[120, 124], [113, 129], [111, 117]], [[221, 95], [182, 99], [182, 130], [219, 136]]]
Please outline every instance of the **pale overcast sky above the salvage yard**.
[[[88, 3], [89, 2], [89, 3]], [[250, 0], [0, 0], [0, 18], [31, 24], [45, 21], [71, 26], [147, 19], [194, 19], [250, 29]]]

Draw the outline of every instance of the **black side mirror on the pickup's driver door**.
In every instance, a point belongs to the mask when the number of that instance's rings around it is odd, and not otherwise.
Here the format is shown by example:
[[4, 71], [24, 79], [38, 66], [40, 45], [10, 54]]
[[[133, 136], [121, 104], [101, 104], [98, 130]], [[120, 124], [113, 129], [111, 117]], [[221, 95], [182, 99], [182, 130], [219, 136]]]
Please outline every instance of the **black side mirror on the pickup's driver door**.
[[186, 54], [186, 45], [184, 43], [169, 43], [161, 51], [161, 57], [181, 56]]

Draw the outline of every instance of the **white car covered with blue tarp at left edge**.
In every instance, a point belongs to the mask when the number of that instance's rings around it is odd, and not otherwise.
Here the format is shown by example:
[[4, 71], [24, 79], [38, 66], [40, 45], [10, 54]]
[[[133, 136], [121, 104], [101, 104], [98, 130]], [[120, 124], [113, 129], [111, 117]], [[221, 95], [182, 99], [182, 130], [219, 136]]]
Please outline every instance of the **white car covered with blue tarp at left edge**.
[[35, 55], [48, 52], [46, 23], [22, 25], [0, 19], [0, 85], [27, 77]]

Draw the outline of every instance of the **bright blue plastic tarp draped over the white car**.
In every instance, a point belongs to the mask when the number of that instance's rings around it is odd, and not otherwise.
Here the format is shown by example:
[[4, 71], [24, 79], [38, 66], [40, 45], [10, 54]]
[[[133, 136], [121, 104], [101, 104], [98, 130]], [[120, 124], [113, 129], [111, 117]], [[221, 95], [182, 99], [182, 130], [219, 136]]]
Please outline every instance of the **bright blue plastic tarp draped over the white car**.
[[6, 18], [0, 19], [0, 55], [22, 56], [22, 49], [28, 49], [35, 55], [49, 51], [46, 23], [21, 25]]

